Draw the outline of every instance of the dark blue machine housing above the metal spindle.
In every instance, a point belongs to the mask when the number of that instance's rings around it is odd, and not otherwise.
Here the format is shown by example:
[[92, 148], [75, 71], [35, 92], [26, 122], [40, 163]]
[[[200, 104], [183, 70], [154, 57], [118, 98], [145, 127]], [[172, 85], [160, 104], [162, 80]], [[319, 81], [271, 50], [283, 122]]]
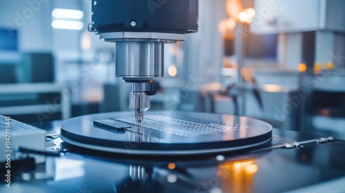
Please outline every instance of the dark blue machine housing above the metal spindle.
[[198, 0], [92, 0], [92, 26], [99, 33], [185, 34], [197, 32], [198, 17]]

